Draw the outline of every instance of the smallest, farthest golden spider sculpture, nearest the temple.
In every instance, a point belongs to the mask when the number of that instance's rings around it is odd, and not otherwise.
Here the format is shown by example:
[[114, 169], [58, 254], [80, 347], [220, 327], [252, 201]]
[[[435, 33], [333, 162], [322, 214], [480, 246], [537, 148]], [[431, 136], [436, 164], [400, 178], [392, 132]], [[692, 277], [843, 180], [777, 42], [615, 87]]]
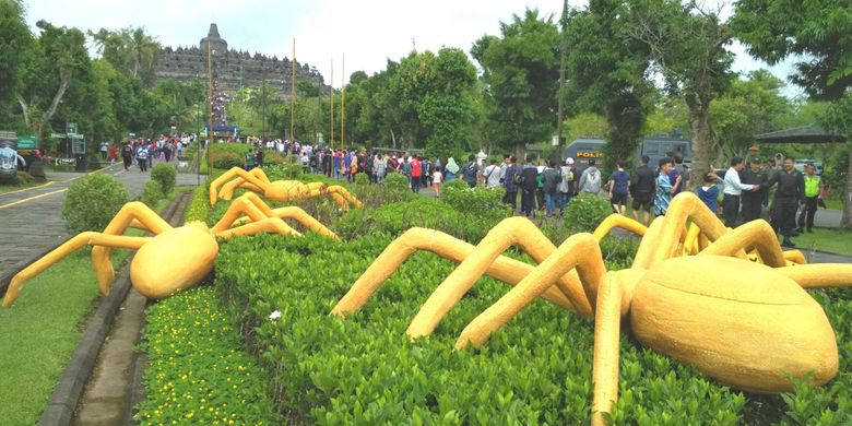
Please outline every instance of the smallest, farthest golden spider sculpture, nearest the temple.
[[215, 205], [220, 198], [230, 200], [237, 188], [262, 193], [265, 199], [272, 201], [305, 200], [329, 194], [343, 209], [348, 210], [350, 204], [358, 209], [364, 206], [355, 196], [340, 185], [303, 184], [298, 180], [276, 180], [273, 182], [269, 180], [261, 168], [246, 171], [240, 167], [225, 171], [210, 184], [210, 205]]

